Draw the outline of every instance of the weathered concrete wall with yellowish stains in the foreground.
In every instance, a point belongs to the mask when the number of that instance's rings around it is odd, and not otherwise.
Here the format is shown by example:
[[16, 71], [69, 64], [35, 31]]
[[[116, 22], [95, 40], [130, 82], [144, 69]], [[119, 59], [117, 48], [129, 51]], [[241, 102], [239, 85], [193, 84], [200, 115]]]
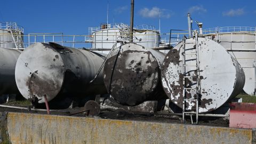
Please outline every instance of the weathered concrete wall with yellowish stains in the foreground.
[[252, 129], [8, 113], [12, 143], [252, 143]]

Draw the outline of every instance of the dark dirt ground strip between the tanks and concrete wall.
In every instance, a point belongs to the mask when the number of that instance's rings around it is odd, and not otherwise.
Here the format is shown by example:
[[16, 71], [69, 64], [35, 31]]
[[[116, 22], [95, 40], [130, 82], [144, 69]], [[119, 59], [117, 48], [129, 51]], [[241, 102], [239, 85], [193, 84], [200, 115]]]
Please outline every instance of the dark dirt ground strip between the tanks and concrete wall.
[[[22, 106], [25, 107], [25, 106]], [[82, 111], [83, 108], [68, 108], [63, 110], [52, 110], [51, 115], [62, 115], [70, 116], [70, 114]], [[0, 107], [0, 112], [15, 112], [15, 113], [32, 113], [32, 114], [47, 114], [46, 111], [39, 110], [25, 110], [25, 109], [14, 109], [14, 108], [4, 108]], [[73, 116], [86, 117], [84, 113], [76, 114]], [[87, 116], [91, 117], [91, 116]], [[129, 111], [124, 111], [117, 109], [113, 110], [101, 110], [99, 116], [94, 116], [94, 118], [104, 118], [104, 119], [120, 119], [127, 121], [146, 121], [146, 122], [159, 122], [159, 123], [177, 123], [182, 124], [182, 117], [173, 115], [161, 115], [161, 113], [132, 113]], [[191, 124], [190, 117], [187, 117], [187, 124]], [[209, 125], [209, 126], [221, 126], [228, 127], [229, 120], [223, 118], [212, 118], [212, 117], [199, 117], [198, 125]]]

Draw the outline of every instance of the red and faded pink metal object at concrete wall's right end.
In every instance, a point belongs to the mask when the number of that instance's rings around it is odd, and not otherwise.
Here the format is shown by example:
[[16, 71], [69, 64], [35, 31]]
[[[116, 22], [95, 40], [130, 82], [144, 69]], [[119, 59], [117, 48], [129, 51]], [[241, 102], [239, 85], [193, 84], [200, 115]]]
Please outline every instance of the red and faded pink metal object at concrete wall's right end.
[[256, 103], [230, 103], [229, 127], [256, 128]]

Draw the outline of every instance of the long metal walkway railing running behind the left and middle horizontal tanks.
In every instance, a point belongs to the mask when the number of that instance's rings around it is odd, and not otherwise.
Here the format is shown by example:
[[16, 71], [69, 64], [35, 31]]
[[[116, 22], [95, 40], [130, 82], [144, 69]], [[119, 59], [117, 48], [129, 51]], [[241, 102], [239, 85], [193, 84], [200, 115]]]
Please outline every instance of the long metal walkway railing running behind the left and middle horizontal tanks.
[[[134, 38], [134, 41], [136, 43], [159, 43], [161, 45], [167, 45], [167, 44], [171, 44], [171, 45], [175, 45], [178, 42], [180, 42], [181, 39], [181, 35], [179, 33], [176, 34], [172, 34], [176, 35], [175, 38], [171, 39], [171, 42], [169, 41], [169, 37], [170, 37], [170, 33], [163, 33], [163, 34], [159, 34], [159, 33], [154, 33], [154, 34], [140, 34], [137, 32], [134, 32], [134, 37], [139, 37], [139, 36], [145, 36], [145, 39], [142, 39], [142, 41], [140, 41], [140, 39]], [[148, 35], [148, 36], [147, 36]], [[160, 36], [161, 39], [155, 39], [154, 37], [150, 37], [152, 35], [155, 36]], [[0, 33], [1, 37], [7, 36], [10, 37], [11, 34], [10, 33]], [[96, 35], [97, 37], [98, 35]], [[120, 40], [118, 39], [119, 37], [121, 37], [124, 41], [129, 41], [129, 39], [125, 39], [124, 35], [121, 35], [119, 33], [102, 33], [99, 36], [108, 36], [110, 37], [115, 37], [113, 39], [102, 39], [102, 40], [97, 40], [94, 39], [93, 35], [64, 35], [63, 33], [37, 33], [37, 34], [26, 34], [26, 35], [21, 35], [21, 37], [23, 38], [23, 45], [26, 48], [27, 46], [34, 44], [34, 43], [49, 43], [49, 42], [54, 42], [54, 43], [58, 43], [60, 45], [63, 46], [68, 46], [68, 47], [85, 47], [86, 49], [92, 49], [92, 45], [95, 43], [102, 43], [102, 44], [106, 44], [106, 43], [113, 43], [116, 42], [116, 40]], [[127, 37], [127, 36], [126, 36]], [[6, 39], [6, 38], [3, 38]], [[1, 44], [3, 43], [15, 43], [13, 41], [0, 41]], [[8, 47], [8, 48], [13, 48], [15, 49], [16, 47]], [[102, 47], [100, 47], [102, 48]], [[103, 47], [104, 48], [104, 47]], [[105, 47], [107, 48], [107, 47]]]

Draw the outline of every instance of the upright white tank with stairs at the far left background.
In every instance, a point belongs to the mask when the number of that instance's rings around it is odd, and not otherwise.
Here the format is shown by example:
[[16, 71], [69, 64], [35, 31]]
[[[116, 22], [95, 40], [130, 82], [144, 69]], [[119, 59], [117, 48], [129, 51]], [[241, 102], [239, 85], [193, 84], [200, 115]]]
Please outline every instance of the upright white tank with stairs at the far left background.
[[[13, 35], [11, 33], [13, 32]], [[18, 26], [15, 22], [0, 22], [0, 47], [9, 49], [18, 49], [23, 47], [17, 47], [15, 45], [15, 37], [20, 36], [23, 42], [23, 28]], [[19, 45], [19, 44], [18, 44]], [[23, 45], [23, 44], [22, 44]]]

